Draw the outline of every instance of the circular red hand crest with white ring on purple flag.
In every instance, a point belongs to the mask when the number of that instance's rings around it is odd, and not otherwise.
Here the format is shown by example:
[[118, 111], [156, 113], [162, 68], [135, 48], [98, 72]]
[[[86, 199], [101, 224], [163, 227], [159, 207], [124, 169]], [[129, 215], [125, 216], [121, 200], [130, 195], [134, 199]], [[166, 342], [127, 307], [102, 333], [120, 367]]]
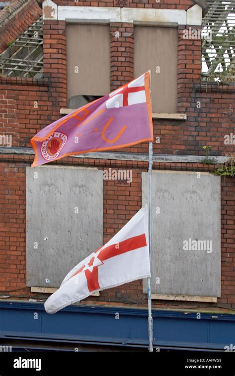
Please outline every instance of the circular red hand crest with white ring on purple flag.
[[67, 142], [68, 137], [61, 132], [54, 132], [47, 140], [43, 141], [41, 153], [47, 161], [53, 161], [59, 156], [60, 151]]

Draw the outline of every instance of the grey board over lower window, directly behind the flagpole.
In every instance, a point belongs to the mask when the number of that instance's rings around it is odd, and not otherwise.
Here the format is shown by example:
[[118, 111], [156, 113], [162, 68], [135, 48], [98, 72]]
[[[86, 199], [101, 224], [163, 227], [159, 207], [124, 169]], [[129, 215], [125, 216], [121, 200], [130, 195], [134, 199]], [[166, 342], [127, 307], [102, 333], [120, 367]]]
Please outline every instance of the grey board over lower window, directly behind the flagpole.
[[[147, 196], [142, 173], [143, 204]], [[154, 172], [152, 211], [152, 293], [219, 297], [220, 177]]]

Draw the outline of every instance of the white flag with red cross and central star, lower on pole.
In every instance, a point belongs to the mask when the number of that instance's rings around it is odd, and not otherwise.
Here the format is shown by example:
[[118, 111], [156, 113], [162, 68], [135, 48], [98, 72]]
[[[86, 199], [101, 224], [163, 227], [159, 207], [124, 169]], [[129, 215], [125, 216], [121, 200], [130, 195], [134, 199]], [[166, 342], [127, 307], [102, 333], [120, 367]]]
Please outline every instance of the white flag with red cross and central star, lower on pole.
[[47, 313], [85, 299], [94, 291], [150, 277], [148, 208], [145, 205], [101, 248], [77, 264], [45, 302]]

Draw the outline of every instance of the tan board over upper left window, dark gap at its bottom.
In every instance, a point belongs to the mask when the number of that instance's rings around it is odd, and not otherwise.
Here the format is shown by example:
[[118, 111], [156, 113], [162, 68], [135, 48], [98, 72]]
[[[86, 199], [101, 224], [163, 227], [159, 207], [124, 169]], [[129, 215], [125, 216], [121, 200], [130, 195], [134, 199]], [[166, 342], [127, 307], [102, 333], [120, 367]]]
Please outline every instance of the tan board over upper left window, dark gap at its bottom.
[[68, 105], [71, 101], [76, 107], [86, 96], [92, 100], [110, 93], [109, 26], [67, 25], [66, 47]]

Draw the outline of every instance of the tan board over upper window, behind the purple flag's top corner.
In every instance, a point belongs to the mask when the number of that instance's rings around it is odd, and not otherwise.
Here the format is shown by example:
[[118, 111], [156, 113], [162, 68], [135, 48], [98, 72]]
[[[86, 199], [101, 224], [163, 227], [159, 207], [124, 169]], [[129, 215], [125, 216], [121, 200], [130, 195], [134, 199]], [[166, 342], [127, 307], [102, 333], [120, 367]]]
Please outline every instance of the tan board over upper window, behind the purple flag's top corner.
[[151, 70], [152, 111], [177, 112], [178, 30], [134, 27], [134, 77]]

